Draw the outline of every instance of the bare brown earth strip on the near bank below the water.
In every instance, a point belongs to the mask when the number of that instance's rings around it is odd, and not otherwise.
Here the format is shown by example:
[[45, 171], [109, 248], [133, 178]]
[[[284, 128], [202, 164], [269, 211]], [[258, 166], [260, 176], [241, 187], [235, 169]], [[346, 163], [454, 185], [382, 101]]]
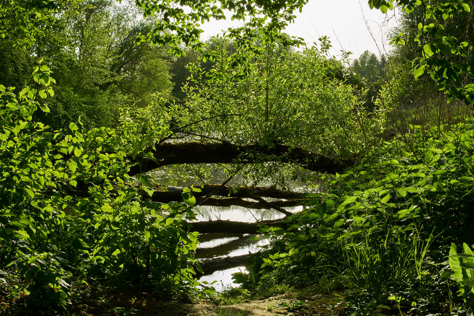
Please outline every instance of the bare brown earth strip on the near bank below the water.
[[[96, 294], [106, 294], [97, 292]], [[70, 315], [81, 316], [305, 316], [334, 315], [339, 308], [340, 296], [336, 294], [306, 293], [298, 295], [297, 291], [269, 298], [242, 300], [232, 305], [216, 305], [211, 300], [201, 300], [194, 304], [179, 301], [168, 301], [152, 293], [132, 289], [126, 292], [112, 290], [106, 297], [91, 296], [83, 305], [73, 308]], [[301, 294], [301, 293], [300, 293]], [[301, 302], [300, 305], [295, 304]]]

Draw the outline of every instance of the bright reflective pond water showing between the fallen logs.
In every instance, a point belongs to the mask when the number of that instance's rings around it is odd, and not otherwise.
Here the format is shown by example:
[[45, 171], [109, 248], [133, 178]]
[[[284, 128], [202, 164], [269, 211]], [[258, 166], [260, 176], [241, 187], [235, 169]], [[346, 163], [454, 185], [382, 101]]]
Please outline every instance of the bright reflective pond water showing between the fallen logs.
[[[177, 185], [178, 187], [191, 186], [193, 181], [181, 181], [178, 178], [173, 179], [173, 176], [167, 174], [164, 168], [148, 173], [151, 180], [162, 185]], [[226, 179], [223, 173], [216, 171], [212, 174], [212, 179], [207, 183], [210, 184], [222, 184]], [[175, 181], [174, 181], [175, 180]], [[235, 181], [235, 182], [234, 182]], [[230, 181], [228, 185], [238, 183], [238, 179]], [[232, 183], [234, 182], [234, 183]], [[270, 182], [265, 181], [261, 185], [269, 185]], [[316, 181], [321, 182], [321, 181]], [[309, 190], [307, 186], [299, 181], [291, 181], [292, 190], [297, 192], [314, 192]], [[266, 199], [272, 201], [272, 199]], [[301, 211], [302, 206], [288, 207], [286, 210], [296, 213]], [[214, 206], [199, 206], [195, 209], [196, 218], [198, 221], [210, 221], [210, 220], [230, 220], [240, 221], [247, 223], [255, 223], [261, 220], [271, 220], [283, 218], [285, 215], [274, 209], [248, 209], [239, 206], [231, 207], [214, 207]], [[259, 251], [263, 246], [269, 243], [268, 240], [260, 238], [258, 240], [248, 240], [255, 235], [249, 234], [229, 234], [229, 233], [211, 233], [202, 234], [198, 236], [200, 245], [196, 250], [197, 259], [212, 259], [225, 256], [238, 256], [247, 254], [249, 251], [255, 253]], [[239, 271], [244, 272], [245, 266], [235, 267], [226, 270], [216, 271], [210, 275], [204, 275], [199, 280], [217, 281], [212, 286], [218, 290], [228, 289], [229, 287], [236, 287], [238, 284], [232, 283], [232, 273]]]

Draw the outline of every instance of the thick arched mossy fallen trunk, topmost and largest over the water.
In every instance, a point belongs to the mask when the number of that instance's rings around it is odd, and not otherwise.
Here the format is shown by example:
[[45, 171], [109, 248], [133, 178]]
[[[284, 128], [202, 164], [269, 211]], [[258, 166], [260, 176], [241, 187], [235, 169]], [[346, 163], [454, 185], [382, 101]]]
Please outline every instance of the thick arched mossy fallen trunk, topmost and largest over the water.
[[129, 175], [149, 172], [163, 166], [182, 163], [295, 163], [315, 172], [341, 172], [355, 163], [355, 159], [334, 159], [301, 148], [276, 144], [273, 148], [260, 145], [237, 146], [213, 143], [162, 143], [156, 144], [153, 159], [145, 154], [128, 157]]

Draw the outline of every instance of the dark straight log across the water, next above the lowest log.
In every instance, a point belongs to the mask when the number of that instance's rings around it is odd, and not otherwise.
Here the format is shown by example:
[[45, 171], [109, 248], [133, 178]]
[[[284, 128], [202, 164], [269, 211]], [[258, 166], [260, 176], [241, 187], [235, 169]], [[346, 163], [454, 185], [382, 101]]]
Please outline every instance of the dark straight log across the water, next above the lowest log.
[[192, 223], [191, 232], [207, 233], [237, 233], [237, 234], [257, 234], [259, 226], [286, 227], [288, 223], [283, 219], [260, 221], [256, 223], [234, 222], [234, 221], [207, 221]]

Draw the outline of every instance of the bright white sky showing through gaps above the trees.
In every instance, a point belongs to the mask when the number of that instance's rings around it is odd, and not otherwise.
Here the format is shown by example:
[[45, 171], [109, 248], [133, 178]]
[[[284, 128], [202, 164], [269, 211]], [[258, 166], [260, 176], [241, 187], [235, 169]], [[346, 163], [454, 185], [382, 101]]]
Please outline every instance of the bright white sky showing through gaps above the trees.
[[[387, 15], [377, 9], [370, 9], [367, 0], [309, 0], [303, 11], [295, 15], [295, 23], [290, 24], [285, 32], [291, 36], [303, 37], [311, 46], [321, 36], [330, 37], [334, 47], [331, 54], [340, 54], [341, 49], [352, 52], [357, 58], [366, 49], [376, 55], [389, 50], [387, 39], [390, 27], [396, 25], [394, 11]], [[222, 29], [241, 26], [240, 21], [210, 21], [201, 26], [204, 33], [201, 39], [222, 34]], [[392, 18], [390, 18], [392, 17]], [[385, 21], [388, 19], [388, 22]], [[385, 21], [385, 22], [384, 22]], [[372, 37], [371, 32], [375, 38]]]

